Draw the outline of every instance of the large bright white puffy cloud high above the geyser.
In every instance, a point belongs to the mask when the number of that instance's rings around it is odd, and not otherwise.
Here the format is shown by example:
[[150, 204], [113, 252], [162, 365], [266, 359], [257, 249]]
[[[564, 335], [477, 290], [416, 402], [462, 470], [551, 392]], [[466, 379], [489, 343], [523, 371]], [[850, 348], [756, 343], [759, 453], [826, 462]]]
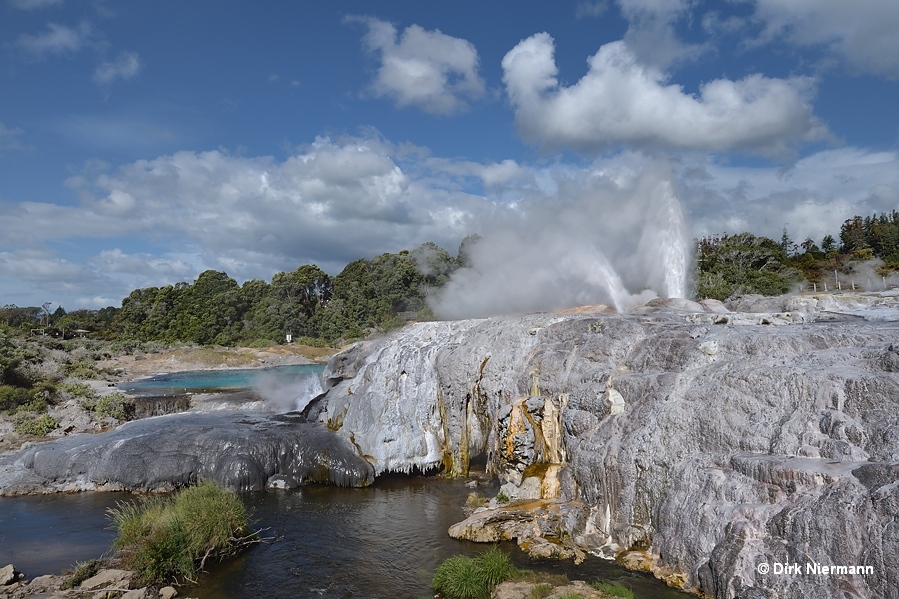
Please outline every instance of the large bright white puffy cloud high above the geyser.
[[549, 148], [629, 144], [784, 156], [796, 143], [828, 135], [812, 114], [809, 78], [716, 79], [694, 96], [619, 41], [603, 45], [587, 74], [563, 87], [553, 53], [553, 39], [539, 33], [502, 62], [519, 131]]

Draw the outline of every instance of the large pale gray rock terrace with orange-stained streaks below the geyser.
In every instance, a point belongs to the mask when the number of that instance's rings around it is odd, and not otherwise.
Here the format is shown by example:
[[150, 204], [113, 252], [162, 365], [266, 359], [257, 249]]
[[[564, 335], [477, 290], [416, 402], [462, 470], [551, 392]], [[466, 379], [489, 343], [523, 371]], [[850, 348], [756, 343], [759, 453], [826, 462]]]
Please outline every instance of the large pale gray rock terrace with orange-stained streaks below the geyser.
[[412, 325], [336, 356], [307, 412], [377, 473], [542, 476], [587, 506], [573, 543], [696, 593], [899, 597], [896, 323], [686, 307]]

